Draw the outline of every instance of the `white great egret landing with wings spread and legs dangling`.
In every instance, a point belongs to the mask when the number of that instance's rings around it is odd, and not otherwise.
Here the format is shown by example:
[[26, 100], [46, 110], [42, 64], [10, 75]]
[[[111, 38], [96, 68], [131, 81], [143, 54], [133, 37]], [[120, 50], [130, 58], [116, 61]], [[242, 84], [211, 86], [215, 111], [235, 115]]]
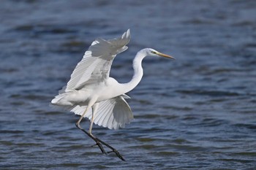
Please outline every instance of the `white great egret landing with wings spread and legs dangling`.
[[[83, 55], [82, 61], [72, 72], [67, 86], [64, 86], [59, 91], [59, 95], [51, 101], [54, 105], [80, 115], [80, 119], [75, 125], [96, 142], [102, 153], [109, 153], [105, 152], [103, 144], [123, 161], [125, 161], [124, 158], [115, 148], [91, 134], [92, 125], [95, 123], [110, 129], [124, 128], [124, 125], [133, 119], [132, 111], [127, 101], [124, 100], [124, 98], [129, 98], [125, 93], [135, 88], [143, 77], [141, 66], [143, 58], [146, 56], [173, 58], [151, 48], [140, 50], [133, 60], [132, 80], [127, 83], [118, 83], [109, 77], [110, 66], [118, 53], [127, 50], [126, 45], [129, 40], [130, 31], [128, 29], [117, 39], [96, 39], [92, 42], [89, 50]], [[88, 132], [80, 126], [83, 117], [91, 120]]]

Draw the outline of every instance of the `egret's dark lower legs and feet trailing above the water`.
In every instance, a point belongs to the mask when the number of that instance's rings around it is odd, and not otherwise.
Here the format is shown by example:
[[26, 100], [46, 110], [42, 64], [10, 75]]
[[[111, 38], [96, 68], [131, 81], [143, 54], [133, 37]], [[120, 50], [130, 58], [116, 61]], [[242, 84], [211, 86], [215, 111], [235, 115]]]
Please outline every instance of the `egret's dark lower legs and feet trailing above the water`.
[[[93, 135], [89, 134], [86, 130], [84, 130], [83, 128], [80, 127], [80, 125], [78, 123], [75, 124], [81, 131], [83, 131], [84, 133], [86, 133], [91, 139], [94, 140], [94, 142], [96, 142], [96, 145], [99, 147], [99, 149], [102, 151], [102, 153], [107, 154], [110, 152], [114, 152], [116, 153], [116, 156], [118, 158], [120, 158], [122, 161], [125, 161], [125, 159], [121, 156], [121, 154], [118, 152], [118, 150], [116, 150], [115, 148], [111, 147], [109, 144], [103, 142], [102, 140], [98, 139], [97, 137], [94, 137]], [[104, 148], [102, 147], [102, 144], [105, 145], [106, 147], [108, 147], [111, 151], [110, 152], [105, 152]]]

